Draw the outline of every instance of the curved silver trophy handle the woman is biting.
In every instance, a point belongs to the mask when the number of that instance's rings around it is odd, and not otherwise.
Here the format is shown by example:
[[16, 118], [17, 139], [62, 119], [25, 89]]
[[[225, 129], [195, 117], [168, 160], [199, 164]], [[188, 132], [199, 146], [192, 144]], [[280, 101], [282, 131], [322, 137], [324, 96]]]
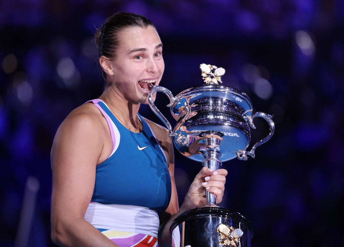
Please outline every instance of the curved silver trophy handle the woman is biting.
[[155, 115], [157, 115], [160, 120], [165, 124], [166, 128], [168, 129], [169, 131], [169, 137], [176, 137], [176, 143], [178, 143], [179, 145], [181, 146], [185, 146], [186, 143], [187, 143], [187, 138], [185, 135], [182, 135], [180, 132], [179, 134], [173, 132], [172, 130], [172, 126], [170, 124], [170, 122], [164, 117], [164, 115], [162, 115], [162, 113], [160, 112], [160, 110], [154, 105], [154, 102], [153, 102], [153, 94], [155, 92], [162, 92], [164, 93], [165, 95], [167, 95], [167, 97], [170, 99], [170, 104], [167, 105], [167, 107], [171, 107], [175, 101], [175, 98], [173, 97], [173, 94], [172, 92], [165, 88], [165, 87], [162, 87], [162, 86], [154, 86], [154, 85], [151, 85], [152, 89], [150, 90], [149, 92], [149, 97], [148, 97], [148, 102], [149, 102], [149, 106], [150, 108], [152, 109], [152, 111], [155, 113]]

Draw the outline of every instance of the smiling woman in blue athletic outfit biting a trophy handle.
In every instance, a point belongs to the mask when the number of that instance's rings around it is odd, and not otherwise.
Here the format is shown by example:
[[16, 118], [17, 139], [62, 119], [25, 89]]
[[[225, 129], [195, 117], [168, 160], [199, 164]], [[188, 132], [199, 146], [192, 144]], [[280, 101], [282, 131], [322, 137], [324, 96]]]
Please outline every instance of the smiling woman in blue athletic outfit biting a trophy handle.
[[138, 114], [140, 104], [148, 104], [149, 84], [158, 85], [164, 71], [160, 37], [145, 17], [116, 13], [95, 40], [106, 86], [57, 130], [52, 240], [62, 246], [157, 246], [159, 238], [160, 246], [178, 246], [178, 231], [172, 240], [166, 226], [204, 206], [204, 188], [221, 202], [227, 172], [203, 168], [178, 208], [172, 140]]

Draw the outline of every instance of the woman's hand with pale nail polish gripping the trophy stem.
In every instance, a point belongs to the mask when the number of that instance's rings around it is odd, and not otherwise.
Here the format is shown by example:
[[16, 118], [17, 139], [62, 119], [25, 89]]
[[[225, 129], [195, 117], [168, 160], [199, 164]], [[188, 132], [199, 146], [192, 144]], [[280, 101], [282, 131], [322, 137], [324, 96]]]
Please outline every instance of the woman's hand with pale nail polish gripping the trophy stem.
[[216, 203], [220, 203], [225, 190], [226, 175], [227, 170], [225, 169], [214, 171], [213, 169], [203, 167], [195, 176], [195, 179], [185, 196], [185, 200], [182, 205], [184, 210], [205, 206], [207, 204], [205, 190], [215, 195]]

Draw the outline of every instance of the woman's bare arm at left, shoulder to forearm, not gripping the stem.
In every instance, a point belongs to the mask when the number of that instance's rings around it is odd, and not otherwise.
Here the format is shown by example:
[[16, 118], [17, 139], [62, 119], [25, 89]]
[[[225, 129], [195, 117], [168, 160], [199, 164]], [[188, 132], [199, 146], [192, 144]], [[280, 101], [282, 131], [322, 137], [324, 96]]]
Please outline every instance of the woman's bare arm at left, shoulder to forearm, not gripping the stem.
[[117, 246], [84, 219], [105, 135], [100, 118], [74, 111], [58, 128], [51, 151], [51, 238], [60, 246]]

